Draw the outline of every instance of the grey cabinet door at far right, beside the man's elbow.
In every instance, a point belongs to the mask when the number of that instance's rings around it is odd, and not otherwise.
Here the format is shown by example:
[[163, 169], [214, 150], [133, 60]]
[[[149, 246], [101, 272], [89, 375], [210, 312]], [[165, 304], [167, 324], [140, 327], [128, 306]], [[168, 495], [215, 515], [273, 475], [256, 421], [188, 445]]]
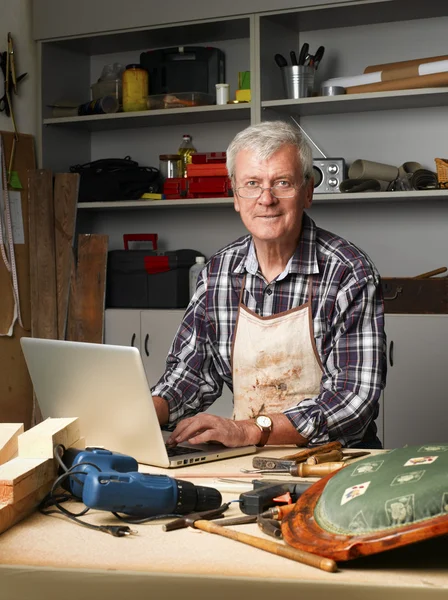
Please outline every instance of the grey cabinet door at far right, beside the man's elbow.
[[386, 448], [446, 442], [448, 315], [386, 315]]

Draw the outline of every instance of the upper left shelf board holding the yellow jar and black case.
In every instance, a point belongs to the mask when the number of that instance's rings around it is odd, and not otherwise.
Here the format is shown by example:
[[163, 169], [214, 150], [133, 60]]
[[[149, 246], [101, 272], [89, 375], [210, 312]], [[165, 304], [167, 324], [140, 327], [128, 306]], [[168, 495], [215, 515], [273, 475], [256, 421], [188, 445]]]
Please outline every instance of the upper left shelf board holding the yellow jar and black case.
[[144, 110], [107, 115], [86, 115], [82, 117], [58, 117], [44, 119], [51, 127], [74, 127], [88, 131], [133, 129], [182, 125], [184, 123], [207, 123], [209, 121], [239, 121], [250, 119], [250, 104], [227, 104], [224, 106], [194, 106], [192, 108], [167, 108]]

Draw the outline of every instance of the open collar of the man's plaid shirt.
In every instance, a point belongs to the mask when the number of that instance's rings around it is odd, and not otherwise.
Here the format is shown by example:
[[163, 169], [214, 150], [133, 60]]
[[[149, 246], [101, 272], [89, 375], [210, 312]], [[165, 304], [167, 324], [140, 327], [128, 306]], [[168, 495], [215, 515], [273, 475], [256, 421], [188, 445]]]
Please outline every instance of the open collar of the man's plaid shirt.
[[[235, 273], [243, 273], [247, 271], [255, 275], [258, 271], [258, 260], [255, 252], [255, 245], [251, 236], [247, 238], [247, 254], [246, 258], [239, 262], [235, 267]], [[318, 273], [319, 265], [317, 262], [316, 252], [316, 224], [306, 214], [303, 214], [302, 231], [300, 233], [299, 243], [294, 254], [288, 261], [285, 270], [281, 273], [277, 280], [283, 279], [288, 273], [302, 273], [309, 275]]]

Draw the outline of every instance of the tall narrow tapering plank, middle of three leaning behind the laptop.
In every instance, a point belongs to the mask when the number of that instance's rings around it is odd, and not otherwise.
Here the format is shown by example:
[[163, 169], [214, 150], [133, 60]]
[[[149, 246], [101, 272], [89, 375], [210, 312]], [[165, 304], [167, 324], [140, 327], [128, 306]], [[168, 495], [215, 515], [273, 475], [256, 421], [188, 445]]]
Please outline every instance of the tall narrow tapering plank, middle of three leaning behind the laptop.
[[54, 180], [54, 224], [58, 338], [60, 340], [65, 339], [67, 327], [78, 190], [79, 173], [56, 173]]

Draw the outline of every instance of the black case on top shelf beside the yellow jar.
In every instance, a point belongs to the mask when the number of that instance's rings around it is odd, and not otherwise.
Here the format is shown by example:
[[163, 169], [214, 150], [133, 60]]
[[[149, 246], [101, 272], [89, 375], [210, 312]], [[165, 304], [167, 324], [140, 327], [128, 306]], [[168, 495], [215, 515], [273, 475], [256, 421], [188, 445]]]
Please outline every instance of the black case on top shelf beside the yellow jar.
[[217, 83], [225, 82], [225, 57], [219, 48], [176, 46], [140, 54], [148, 73], [148, 93], [203, 92], [215, 96]]

